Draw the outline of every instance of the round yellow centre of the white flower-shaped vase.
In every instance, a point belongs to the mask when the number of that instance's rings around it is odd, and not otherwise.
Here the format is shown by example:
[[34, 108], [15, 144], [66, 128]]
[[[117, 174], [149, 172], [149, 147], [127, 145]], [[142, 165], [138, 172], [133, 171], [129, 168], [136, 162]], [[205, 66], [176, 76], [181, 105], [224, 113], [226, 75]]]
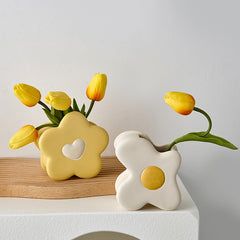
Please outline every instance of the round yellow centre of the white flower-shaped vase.
[[165, 174], [161, 168], [150, 166], [141, 174], [142, 185], [149, 190], [159, 189], [165, 182]]

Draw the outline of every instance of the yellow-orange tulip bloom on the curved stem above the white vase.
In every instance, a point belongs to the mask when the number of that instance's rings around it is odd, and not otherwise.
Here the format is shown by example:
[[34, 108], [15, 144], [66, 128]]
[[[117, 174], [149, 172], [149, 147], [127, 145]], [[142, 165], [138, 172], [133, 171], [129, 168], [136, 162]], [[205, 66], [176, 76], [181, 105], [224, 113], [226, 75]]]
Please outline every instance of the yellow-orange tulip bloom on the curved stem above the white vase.
[[182, 115], [190, 114], [195, 106], [194, 97], [183, 92], [168, 92], [165, 94], [164, 100], [174, 111]]

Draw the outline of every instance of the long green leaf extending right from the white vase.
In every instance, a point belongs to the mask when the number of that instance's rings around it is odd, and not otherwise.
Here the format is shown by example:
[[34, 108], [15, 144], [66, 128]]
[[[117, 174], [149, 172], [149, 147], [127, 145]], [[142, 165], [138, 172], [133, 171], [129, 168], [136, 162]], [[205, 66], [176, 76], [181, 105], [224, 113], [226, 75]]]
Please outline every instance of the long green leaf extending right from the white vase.
[[210, 133], [208, 133], [207, 135], [204, 136], [204, 133], [205, 132], [188, 133], [180, 138], [177, 138], [174, 142], [176, 142], [176, 143], [185, 142], [185, 141], [210, 142], [210, 143], [214, 143], [219, 146], [223, 146], [223, 147], [230, 148], [233, 150], [238, 149], [235, 145], [233, 145], [231, 142], [229, 142], [228, 140], [226, 140], [222, 137], [215, 136]]

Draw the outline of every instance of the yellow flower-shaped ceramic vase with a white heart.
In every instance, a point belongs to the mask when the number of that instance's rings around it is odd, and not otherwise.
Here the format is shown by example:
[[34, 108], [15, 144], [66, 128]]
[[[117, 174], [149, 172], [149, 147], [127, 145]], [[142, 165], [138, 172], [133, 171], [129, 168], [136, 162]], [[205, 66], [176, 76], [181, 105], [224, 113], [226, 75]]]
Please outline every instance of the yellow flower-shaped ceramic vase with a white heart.
[[58, 127], [46, 128], [39, 135], [41, 166], [50, 178], [92, 178], [100, 172], [108, 134], [81, 113], [68, 113]]

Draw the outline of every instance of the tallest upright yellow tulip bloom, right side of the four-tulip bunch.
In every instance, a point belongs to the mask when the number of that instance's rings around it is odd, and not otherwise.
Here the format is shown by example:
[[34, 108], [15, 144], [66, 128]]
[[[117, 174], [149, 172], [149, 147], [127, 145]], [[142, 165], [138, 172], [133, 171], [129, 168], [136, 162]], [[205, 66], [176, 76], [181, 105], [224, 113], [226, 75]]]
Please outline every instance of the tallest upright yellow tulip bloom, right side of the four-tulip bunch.
[[107, 76], [103, 73], [95, 74], [87, 87], [87, 97], [93, 101], [101, 101], [105, 95], [106, 87]]

